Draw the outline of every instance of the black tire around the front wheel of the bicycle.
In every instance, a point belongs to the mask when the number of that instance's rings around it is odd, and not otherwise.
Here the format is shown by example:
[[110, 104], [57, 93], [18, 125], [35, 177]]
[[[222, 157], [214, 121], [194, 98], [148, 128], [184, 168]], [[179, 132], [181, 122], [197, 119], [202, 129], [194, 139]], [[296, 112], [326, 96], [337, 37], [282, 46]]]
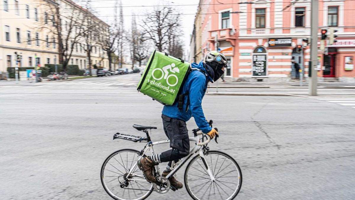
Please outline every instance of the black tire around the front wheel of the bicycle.
[[[240, 191], [240, 189], [241, 189], [241, 186], [242, 186], [242, 172], [241, 172], [241, 169], [240, 169], [238, 163], [235, 161], [235, 159], [234, 159], [233, 157], [229, 156], [228, 154], [226, 154], [226, 153], [224, 153], [224, 152], [221, 152], [221, 151], [207, 151], [207, 155], [208, 155], [209, 153], [223, 154], [225, 157], [229, 158], [229, 159], [235, 164], [237, 170], [239, 171], [239, 174], [240, 174], [240, 184], [238, 185], [238, 188], [236, 189], [236, 192], [233, 194], [233, 196], [230, 196], [230, 197], [228, 198], [228, 200], [234, 199], [234, 198], [238, 195], [238, 193], [239, 193], [239, 191]], [[192, 191], [190, 190], [189, 183], [188, 183], [188, 180], [187, 180], [187, 173], [188, 173], [188, 171], [189, 171], [189, 169], [190, 169], [190, 165], [191, 165], [197, 158], [199, 158], [199, 157], [200, 157], [200, 155], [196, 155], [195, 157], [193, 157], [193, 158], [190, 160], [189, 164], [187, 164], [187, 166], [186, 166], [185, 174], [184, 174], [184, 183], [185, 183], [186, 191], [187, 191], [187, 193], [191, 196], [191, 198], [194, 199], [194, 200], [200, 200], [200, 199], [198, 199], [194, 194], [192, 194]], [[211, 189], [212, 189], [212, 188], [211, 188]]]

